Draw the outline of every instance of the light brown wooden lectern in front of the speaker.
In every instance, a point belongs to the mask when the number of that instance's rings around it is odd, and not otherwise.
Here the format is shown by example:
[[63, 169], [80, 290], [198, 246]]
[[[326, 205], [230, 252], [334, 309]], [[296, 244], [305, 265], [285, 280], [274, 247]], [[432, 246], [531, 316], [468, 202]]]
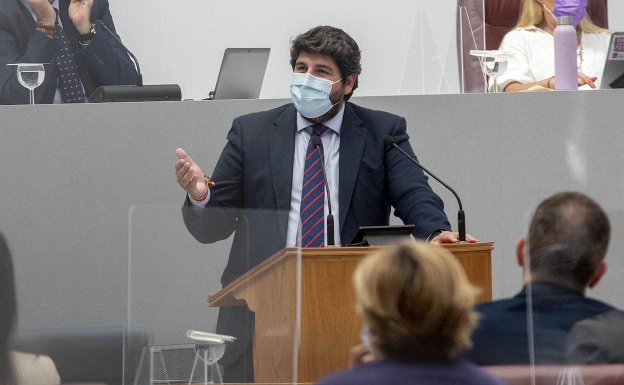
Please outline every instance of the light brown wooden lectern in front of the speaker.
[[[285, 248], [210, 295], [210, 306], [246, 305], [255, 312], [256, 383], [292, 383], [295, 378], [313, 383], [346, 368], [361, 329], [351, 277], [358, 261], [381, 247]], [[443, 247], [482, 289], [477, 300], [491, 301], [494, 242]]]

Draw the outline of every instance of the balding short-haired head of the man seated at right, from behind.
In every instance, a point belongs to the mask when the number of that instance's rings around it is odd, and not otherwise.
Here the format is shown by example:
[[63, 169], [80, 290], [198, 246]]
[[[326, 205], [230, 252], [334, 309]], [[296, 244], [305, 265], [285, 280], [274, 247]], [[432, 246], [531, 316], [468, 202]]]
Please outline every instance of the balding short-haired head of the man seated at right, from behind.
[[607, 214], [586, 195], [563, 192], [547, 198], [535, 210], [528, 245], [522, 238], [518, 242], [525, 283], [550, 282], [579, 292], [593, 287], [607, 271], [610, 233]]

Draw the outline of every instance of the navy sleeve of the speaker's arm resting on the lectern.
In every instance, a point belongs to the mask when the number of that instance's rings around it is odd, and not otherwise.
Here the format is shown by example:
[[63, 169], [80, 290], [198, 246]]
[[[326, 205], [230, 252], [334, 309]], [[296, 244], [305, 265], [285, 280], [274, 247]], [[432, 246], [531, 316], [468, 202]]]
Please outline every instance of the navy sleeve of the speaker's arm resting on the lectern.
[[[391, 135], [401, 149], [416, 157], [409, 145], [404, 118], [397, 120]], [[444, 203], [431, 190], [427, 177], [419, 167], [404, 157], [399, 150], [391, 148], [386, 151], [386, 168], [394, 215], [401, 218], [404, 223], [416, 225], [414, 236], [425, 239], [433, 231], [451, 230], [444, 213]]]

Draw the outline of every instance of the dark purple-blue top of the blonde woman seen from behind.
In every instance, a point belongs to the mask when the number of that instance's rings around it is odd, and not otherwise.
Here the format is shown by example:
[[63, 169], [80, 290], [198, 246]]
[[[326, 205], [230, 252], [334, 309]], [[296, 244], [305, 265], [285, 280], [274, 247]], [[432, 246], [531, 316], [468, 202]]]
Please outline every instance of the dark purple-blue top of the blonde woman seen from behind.
[[341, 371], [318, 385], [504, 385], [474, 364], [462, 360], [441, 363], [379, 361]]

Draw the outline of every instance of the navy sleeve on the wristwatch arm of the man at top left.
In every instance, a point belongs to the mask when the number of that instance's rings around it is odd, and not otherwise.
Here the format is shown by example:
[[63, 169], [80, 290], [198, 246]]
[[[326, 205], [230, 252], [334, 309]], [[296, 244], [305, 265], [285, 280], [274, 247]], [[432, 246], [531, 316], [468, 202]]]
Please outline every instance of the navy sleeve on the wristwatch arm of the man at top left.
[[[99, 9], [91, 12], [92, 21], [100, 19], [115, 32], [115, 24], [110, 15], [109, 2], [107, 0], [97, 2]], [[95, 10], [94, 10], [95, 11]], [[94, 18], [94, 16], [97, 17]], [[125, 85], [136, 84], [137, 71], [134, 63], [124, 49], [104, 29], [97, 29], [93, 40], [88, 46], [80, 45], [82, 54], [92, 72], [92, 76], [100, 85]]]

